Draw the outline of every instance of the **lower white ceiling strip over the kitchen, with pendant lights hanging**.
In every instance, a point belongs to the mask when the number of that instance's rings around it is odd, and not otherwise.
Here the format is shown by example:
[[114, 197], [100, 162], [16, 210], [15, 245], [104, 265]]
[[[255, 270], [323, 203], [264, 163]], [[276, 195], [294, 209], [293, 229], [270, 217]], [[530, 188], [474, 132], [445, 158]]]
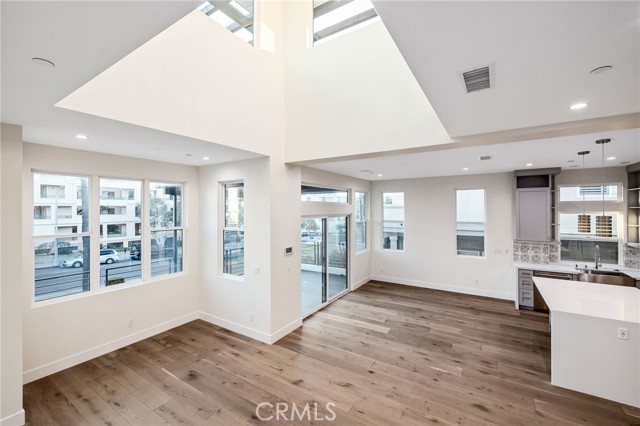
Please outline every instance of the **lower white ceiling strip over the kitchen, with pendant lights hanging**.
[[[590, 151], [585, 157], [585, 167], [593, 168], [602, 166], [602, 148], [595, 141], [604, 138], [611, 139], [605, 145], [605, 156], [616, 157], [605, 161], [606, 167], [640, 161], [640, 129], [630, 129], [467, 148], [446, 149], [444, 145], [430, 152], [334, 161], [311, 167], [371, 181], [410, 179], [511, 172], [526, 169], [527, 163], [532, 163], [531, 168], [535, 169], [571, 169], [572, 166], [582, 167], [578, 152]], [[480, 156], [484, 155], [490, 155], [492, 159], [481, 161]], [[465, 167], [469, 170], [463, 170]]]

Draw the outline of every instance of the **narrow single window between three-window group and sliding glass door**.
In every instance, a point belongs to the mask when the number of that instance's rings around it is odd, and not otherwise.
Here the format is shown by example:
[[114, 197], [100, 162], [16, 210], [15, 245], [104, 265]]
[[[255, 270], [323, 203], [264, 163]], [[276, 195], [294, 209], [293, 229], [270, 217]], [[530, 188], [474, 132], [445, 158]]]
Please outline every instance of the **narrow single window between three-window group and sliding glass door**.
[[244, 183], [223, 184], [222, 272], [244, 275]]

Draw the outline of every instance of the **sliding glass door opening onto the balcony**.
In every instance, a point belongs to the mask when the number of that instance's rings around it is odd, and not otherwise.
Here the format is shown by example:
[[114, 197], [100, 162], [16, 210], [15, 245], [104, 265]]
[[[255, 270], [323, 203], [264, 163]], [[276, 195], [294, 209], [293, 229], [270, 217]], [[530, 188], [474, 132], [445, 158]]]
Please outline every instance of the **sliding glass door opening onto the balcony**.
[[335, 299], [349, 287], [348, 235], [345, 216], [302, 219], [303, 316]]

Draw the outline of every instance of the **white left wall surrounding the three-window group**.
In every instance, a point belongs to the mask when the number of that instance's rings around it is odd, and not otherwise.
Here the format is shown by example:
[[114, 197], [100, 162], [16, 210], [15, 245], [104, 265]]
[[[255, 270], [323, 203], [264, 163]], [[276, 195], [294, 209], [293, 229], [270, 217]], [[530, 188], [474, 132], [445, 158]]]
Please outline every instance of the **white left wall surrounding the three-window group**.
[[[155, 161], [25, 143], [23, 166], [22, 304], [25, 382], [51, 374], [198, 316], [198, 171]], [[34, 305], [31, 170], [185, 182], [185, 272], [140, 285]], [[97, 244], [92, 241], [92, 244]], [[127, 327], [133, 319], [134, 327]]]

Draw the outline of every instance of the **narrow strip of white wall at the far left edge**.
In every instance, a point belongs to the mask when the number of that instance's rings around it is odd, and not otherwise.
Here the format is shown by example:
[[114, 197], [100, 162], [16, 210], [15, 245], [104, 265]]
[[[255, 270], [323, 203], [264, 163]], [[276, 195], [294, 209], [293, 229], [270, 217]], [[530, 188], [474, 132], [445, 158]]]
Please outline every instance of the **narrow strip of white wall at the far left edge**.
[[[0, 145], [0, 425], [24, 424], [22, 409], [22, 128], [2, 124]], [[33, 210], [32, 210], [33, 211]], [[31, 245], [28, 245], [31, 247]]]

